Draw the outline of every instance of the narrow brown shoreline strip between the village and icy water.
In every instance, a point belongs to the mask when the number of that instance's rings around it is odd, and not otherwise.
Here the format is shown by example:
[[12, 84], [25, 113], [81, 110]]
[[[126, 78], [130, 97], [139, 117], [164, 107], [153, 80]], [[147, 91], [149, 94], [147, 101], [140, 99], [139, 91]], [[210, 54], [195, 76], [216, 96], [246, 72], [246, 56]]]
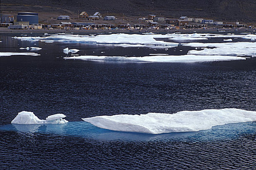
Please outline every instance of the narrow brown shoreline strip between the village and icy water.
[[[221, 32], [219, 31], [221, 30]], [[179, 30], [61, 30], [61, 29], [30, 29], [30, 30], [10, 30], [5, 27], [0, 27], [0, 34], [57, 34], [57, 33], [65, 33], [65, 34], [143, 34], [143, 33], [155, 33], [155, 34], [193, 34], [193, 33], [252, 33], [255, 32], [256, 29], [179, 29]]]

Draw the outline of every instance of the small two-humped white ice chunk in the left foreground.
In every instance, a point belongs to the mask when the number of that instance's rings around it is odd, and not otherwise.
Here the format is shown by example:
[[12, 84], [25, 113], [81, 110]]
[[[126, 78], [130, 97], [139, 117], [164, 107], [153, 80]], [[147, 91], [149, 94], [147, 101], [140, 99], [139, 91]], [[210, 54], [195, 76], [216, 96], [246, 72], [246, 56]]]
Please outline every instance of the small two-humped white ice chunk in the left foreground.
[[64, 124], [68, 121], [63, 119], [63, 114], [48, 116], [45, 120], [39, 119], [33, 112], [22, 111], [12, 120], [13, 124]]

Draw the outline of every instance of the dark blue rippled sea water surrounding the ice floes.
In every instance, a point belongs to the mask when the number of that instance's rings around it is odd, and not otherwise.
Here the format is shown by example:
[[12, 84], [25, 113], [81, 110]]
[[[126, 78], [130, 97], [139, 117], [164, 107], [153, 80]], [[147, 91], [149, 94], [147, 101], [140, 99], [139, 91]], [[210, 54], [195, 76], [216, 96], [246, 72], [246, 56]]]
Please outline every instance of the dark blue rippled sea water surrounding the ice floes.
[[[256, 170], [255, 121], [152, 135], [100, 129], [81, 119], [222, 108], [256, 111], [256, 58], [196, 63], [65, 60], [73, 55], [63, 53], [66, 47], [79, 49], [78, 55], [127, 57], [184, 55], [195, 47], [46, 43], [14, 36], [20, 34], [0, 34], [0, 52], [40, 55], [0, 56], [1, 170]], [[26, 47], [42, 50], [20, 50]], [[69, 122], [11, 124], [23, 110], [39, 119], [62, 113]]]

